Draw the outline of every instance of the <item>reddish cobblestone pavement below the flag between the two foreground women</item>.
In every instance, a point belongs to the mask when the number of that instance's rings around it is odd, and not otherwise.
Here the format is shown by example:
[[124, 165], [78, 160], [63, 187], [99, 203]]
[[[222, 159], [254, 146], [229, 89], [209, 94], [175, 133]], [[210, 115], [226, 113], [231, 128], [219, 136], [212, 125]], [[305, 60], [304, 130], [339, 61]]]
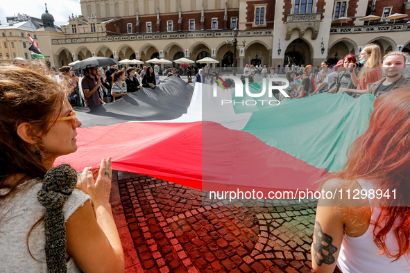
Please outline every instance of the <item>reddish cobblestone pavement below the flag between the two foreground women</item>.
[[206, 193], [195, 188], [122, 172], [117, 179], [139, 261], [127, 272], [313, 272], [314, 207], [202, 206]]

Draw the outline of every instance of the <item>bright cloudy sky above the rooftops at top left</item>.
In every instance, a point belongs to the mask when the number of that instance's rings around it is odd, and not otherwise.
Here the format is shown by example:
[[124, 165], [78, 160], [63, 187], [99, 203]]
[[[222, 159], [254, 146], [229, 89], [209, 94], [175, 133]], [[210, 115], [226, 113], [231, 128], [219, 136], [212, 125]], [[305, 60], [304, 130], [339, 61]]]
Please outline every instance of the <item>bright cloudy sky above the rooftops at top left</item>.
[[41, 18], [45, 12], [44, 3], [47, 3], [49, 13], [54, 17], [54, 24], [57, 26], [67, 24], [68, 16], [71, 13], [81, 15], [80, 0], [3, 0], [0, 6], [1, 24], [6, 23], [6, 17], [16, 15], [17, 13], [26, 13], [31, 17]]

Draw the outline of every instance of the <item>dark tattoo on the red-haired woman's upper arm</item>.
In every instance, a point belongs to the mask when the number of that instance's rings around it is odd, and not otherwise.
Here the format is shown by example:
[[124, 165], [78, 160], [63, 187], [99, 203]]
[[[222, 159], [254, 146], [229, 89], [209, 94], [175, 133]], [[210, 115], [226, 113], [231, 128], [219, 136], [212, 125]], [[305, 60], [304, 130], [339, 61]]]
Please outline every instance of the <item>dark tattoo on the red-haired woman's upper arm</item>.
[[[316, 242], [314, 242], [314, 258], [316, 261], [316, 264], [318, 266], [321, 266], [322, 263], [325, 263], [326, 265], [332, 265], [334, 263], [335, 259], [333, 254], [337, 252], [337, 247], [332, 245], [333, 238], [327, 234], [324, 234], [322, 231], [321, 224], [319, 222], [315, 222], [315, 229], [314, 229], [314, 236], [316, 239]], [[327, 255], [323, 253], [323, 250], [327, 252]], [[318, 256], [320, 255], [320, 256]]]

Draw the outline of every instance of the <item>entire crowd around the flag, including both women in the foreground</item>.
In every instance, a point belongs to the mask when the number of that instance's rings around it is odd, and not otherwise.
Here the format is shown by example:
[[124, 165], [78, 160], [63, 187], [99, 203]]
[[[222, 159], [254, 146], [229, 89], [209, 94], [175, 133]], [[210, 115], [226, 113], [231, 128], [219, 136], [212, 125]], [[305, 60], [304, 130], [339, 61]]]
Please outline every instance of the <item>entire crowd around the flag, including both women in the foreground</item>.
[[[409, 268], [410, 80], [403, 76], [408, 57], [392, 51], [382, 58], [379, 47], [370, 44], [359, 60], [348, 54], [332, 69], [323, 62], [317, 73], [311, 65], [299, 76], [292, 69], [286, 71], [291, 98], [324, 92], [376, 98], [368, 129], [352, 144], [342, 170], [322, 183], [323, 190], [397, 190], [394, 200], [355, 200], [347, 195], [327, 200], [322, 195], [311, 246], [312, 266], [318, 273], [333, 272], [336, 265], [343, 272]], [[358, 63], [363, 65], [361, 70]], [[258, 67], [253, 73], [254, 68], [247, 65], [241, 80], [253, 82], [259, 71]], [[0, 67], [2, 270], [124, 272], [123, 249], [109, 202], [110, 157], [102, 159], [96, 170], [85, 168], [79, 177], [68, 165], [52, 166], [57, 157], [77, 150], [76, 129], [81, 122], [71, 105], [78, 105], [79, 85], [85, 105], [101, 105], [142, 87], [155, 88], [160, 84], [158, 69], [87, 67], [79, 82], [71, 67], [60, 69], [60, 80], [44, 73], [43, 67], [29, 69], [22, 60]], [[261, 69], [264, 78], [277, 78], [275, 67], [271, 73], [267, 70]], [[198, 69], [191, 81], [212, 84], [214, 76], [216, 71]], [[169, 77], [179, 77], [176, 69]], [[61, 217], [44, 216], [48, 213]], [[55, 232], [62, 226], [64, 233]]]

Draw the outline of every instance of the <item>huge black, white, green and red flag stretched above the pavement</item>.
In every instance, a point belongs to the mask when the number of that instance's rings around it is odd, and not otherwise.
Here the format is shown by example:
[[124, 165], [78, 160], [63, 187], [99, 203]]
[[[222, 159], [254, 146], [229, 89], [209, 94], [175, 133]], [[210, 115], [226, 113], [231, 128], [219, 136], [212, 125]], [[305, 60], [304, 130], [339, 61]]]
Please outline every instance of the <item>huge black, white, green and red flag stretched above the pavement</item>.
[[[115, 170], [205, 191], [315, 190], [314, 182], [341, 169], [373, 110], [368, 95], [318, 94], [273, 106], [267, 92], [236, 98], [218, 87], [214, 97], [212, 88], [170, 77], [115, 103], [78, 108], [78, 150], [56, 164], [83, 170], [111, 156]], [[262, 83], [249, 89], [259, 93]]]

